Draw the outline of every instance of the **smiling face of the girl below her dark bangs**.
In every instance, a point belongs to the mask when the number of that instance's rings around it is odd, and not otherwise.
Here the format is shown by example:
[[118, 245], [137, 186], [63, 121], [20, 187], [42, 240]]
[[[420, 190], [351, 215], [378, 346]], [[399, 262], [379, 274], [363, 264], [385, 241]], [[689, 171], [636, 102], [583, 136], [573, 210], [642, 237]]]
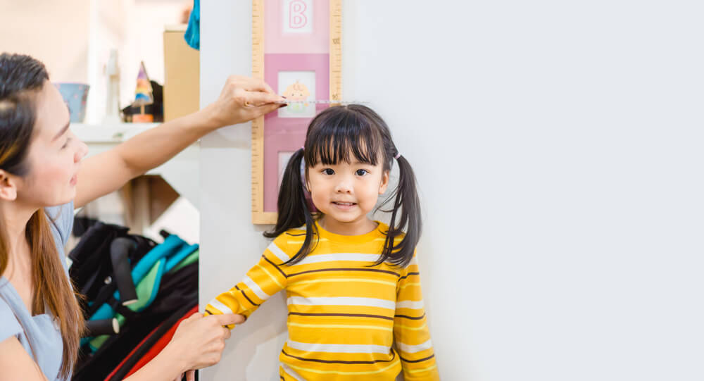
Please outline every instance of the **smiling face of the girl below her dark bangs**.
[[[350, 155], [354, 158], [353, 155]], [[379, 194], [386, 192], [389, 171], [383, 164], [344, 163], [308, 168], [306, 181], [313, 204], [325, 217], [337, 223], [355, 225], [367, 221], [367, 213], [376, 206]], [[326, 223], [329, 223], [326, 219]]]

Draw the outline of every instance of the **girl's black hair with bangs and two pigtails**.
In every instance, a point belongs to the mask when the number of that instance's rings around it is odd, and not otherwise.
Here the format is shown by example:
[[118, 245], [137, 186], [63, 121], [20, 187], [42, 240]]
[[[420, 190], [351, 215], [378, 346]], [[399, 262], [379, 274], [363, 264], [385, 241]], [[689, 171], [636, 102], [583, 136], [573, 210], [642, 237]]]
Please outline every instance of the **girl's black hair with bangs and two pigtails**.
[[[291, 156], [284, 171], [284, 179], [279, 189], [279, 216], [276, 226], [274, 230], [264, 233], [264, 237], [274, 238], [289, 229], [306, 225], [303, 246], [285, 264], [293, 265], [306, 258], [315, 247], [313, 236], [318, 235], [315, 219], [308, 208], [303, 189], [308, 167], [317, 165], [318, 161], [324, 165], [335, 165], [341, 161], [351, 163], [351, 156], [360, 163], [370, 165], [377, 165], [381, 160], [383, 170], [391, 170], [394, 157], [398, 156], [398, 149], [391, 140], [389, 126], [384, 120], [371, 108], [358, 104], [327, 108], [313, 118], [308, 126], [304, 148]], [[393, 201], [393, 206], [384, 210], [391, 213], [391, 220], [382, 256], [375, 265], [388, 261], [403, 268], [413, 258], [415, 246], [420, 239], [422, 218], [413, 168], [403, 156], [396, 158], [396, 161], [399, 173], [398, 187], [381, 205]], [[305, 170], [301, 170], [302, 162], [305, 163]], [[396, 237], [403, 234], [403, 230], [406, 230], [406, 236], [401, 242], [394, 244]], [[315, 239], [315, 242], [318, 240]]]

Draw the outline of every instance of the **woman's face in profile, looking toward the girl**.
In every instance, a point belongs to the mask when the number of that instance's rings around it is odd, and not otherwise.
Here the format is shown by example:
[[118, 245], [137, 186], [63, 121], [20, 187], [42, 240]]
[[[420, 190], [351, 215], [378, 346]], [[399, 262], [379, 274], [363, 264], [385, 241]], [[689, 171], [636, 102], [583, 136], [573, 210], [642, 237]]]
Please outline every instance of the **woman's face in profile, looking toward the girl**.
[[34, 207], [75, 198], [77, 173], [88, 147], [69, 130], [68, 108], [49, 81], [36, 99], [37, 120], [27, 154], [29, 173], [16, 181], [17, 201]]

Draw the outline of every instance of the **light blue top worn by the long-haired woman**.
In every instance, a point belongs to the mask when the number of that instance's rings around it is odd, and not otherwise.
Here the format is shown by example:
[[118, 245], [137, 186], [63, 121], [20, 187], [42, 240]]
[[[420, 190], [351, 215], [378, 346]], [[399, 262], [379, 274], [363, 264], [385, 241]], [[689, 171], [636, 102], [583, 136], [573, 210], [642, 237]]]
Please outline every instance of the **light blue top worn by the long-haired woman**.
[[[61, 255], [68, 276], [63, 246], [73, 229], [73, 202], [46, 208], [45, 211], [51, 222], [56, 250]], [[11, 283], [6, 277], [0, 277], [0, 341], [12, 336], [17, 337], [25, 351], [37, 361], [48, 380], [63, 381], [58, 378], [63, 342], [54, 316], [49, 313], [32, 316]]]

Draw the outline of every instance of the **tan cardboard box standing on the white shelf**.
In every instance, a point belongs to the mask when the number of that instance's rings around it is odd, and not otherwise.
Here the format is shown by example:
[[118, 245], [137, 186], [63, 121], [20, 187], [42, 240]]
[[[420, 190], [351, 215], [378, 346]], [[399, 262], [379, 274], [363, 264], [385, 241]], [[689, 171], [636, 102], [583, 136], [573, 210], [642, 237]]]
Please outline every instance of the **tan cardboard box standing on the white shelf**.
[[186, 44], [187, 25], [164, 29], [164, 121], [200, 108], [200, 52]]

